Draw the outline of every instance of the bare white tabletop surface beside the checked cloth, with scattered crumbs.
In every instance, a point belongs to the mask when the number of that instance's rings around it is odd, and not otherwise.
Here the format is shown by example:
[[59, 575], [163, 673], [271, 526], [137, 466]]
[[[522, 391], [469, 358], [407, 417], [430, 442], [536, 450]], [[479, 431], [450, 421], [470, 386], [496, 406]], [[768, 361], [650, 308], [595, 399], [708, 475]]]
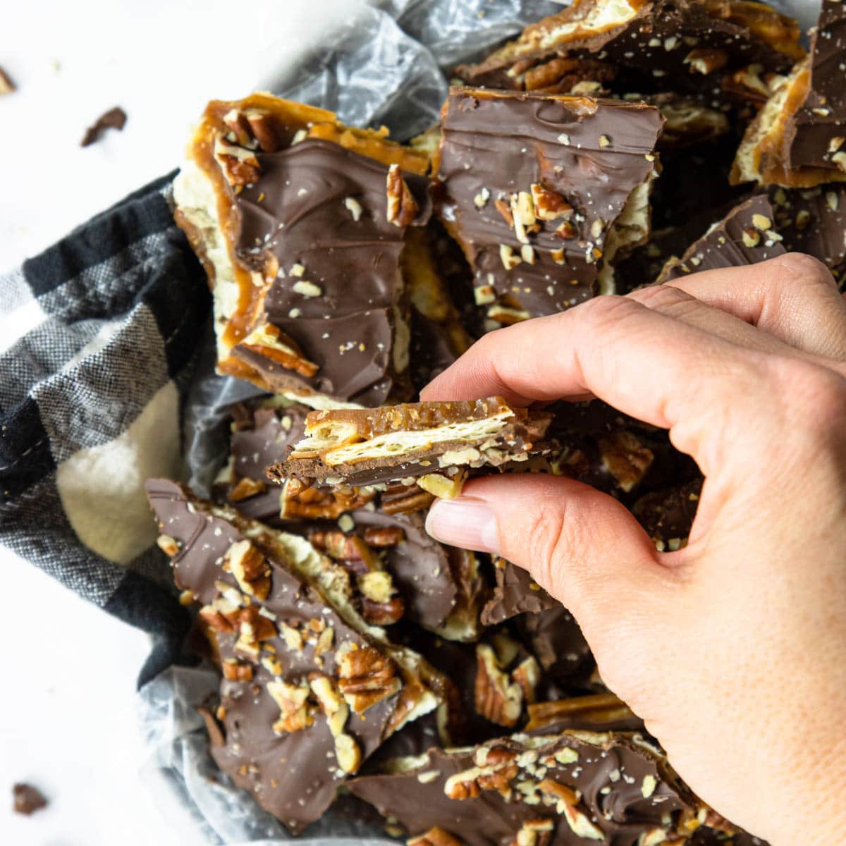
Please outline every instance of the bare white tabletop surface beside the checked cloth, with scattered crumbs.
[[[0, 271], [177, 167], [207, 100], [244, 96], [342, 6], [269, 0], [244, 16], [218, 0], [3, 3], [0, 66], [18, 91], [0, 97]], [[281, 52], [264, 47], [274, 42]], [[124, 131], [80, 148], [116, 105]], [[0, 573], [0, 844], [193, 846], [138, 775], [146, 635], [3, 549]], [[47, 810], [14, 815], [17, 781], [41, 788]]]

